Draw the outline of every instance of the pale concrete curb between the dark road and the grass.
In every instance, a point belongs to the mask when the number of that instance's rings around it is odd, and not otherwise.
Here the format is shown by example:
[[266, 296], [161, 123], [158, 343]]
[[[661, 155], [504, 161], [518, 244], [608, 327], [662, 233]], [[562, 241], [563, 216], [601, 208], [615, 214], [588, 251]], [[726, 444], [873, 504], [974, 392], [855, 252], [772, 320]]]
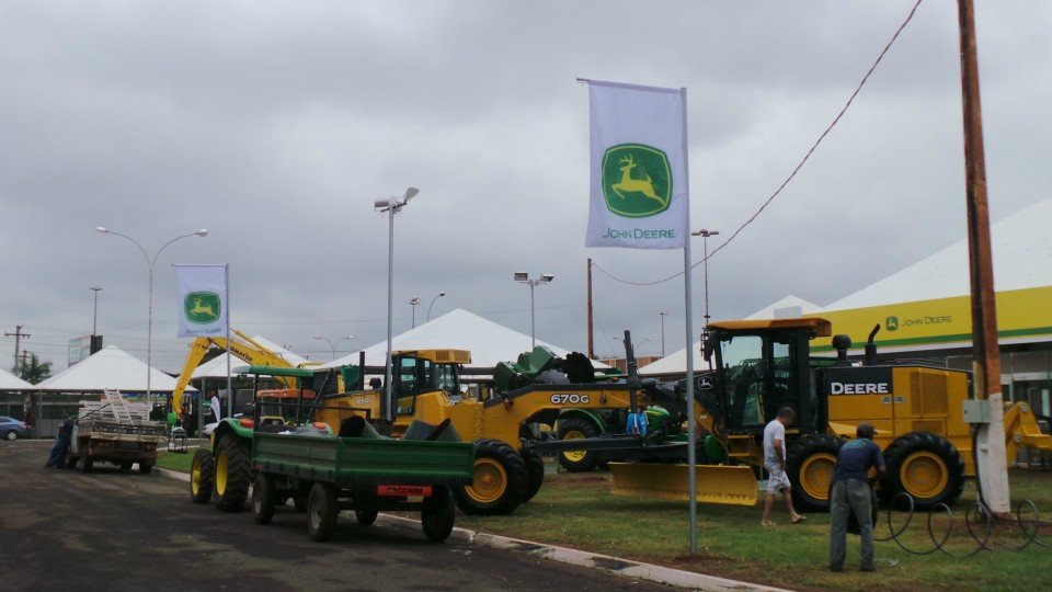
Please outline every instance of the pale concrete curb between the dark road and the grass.
[[[156, 470], [164, 477], [190, 482], [190, 475], [185, 473], [168, 469]], [[419, 520], [396, 516], [391, 514], [380, 514], [376, 519], [376, 522], [377, 524], [385, 524], [396, 528], [407, 528], [415, 532], [420, 532], [421, 528]], [[641, 563], [639, 561], [630, 561], [628, 559], [620, 559], [617, 557], [610, 557], [608, 555], [569, 549], [565, 547], [556, 547], [553, 545], [542, 545], [540, 543], [531, 543], [529, 540], [522, 540], [519, 538], [511, 538], [507, 536], [477, 533], [467, 528], [455, 527], [453, 533], [449, 535], [449, 540], [454, 540], [464, 545], [477, 545], [493, 549], [525, 553], [542, 559], [550, 559], [552, 561], [560, 561], [563, 563], [570, 563], [591, 569], [602, 569], [604, 571], [618, 573], [628, 578], [649, 580], [652, 582], [675, 585], [679, 588], [688, 588], [693, 590], [711, 590], [718, 592], [788, 592], [781, 588], [770, 588], [748, 582], [740, 582], [736, 580], [728, 580], [725, 578], [717, 578], [716, 576], [706, 576], [704, 573], [695, 573], [693, 571], [684, 571], [681, 569]]]

